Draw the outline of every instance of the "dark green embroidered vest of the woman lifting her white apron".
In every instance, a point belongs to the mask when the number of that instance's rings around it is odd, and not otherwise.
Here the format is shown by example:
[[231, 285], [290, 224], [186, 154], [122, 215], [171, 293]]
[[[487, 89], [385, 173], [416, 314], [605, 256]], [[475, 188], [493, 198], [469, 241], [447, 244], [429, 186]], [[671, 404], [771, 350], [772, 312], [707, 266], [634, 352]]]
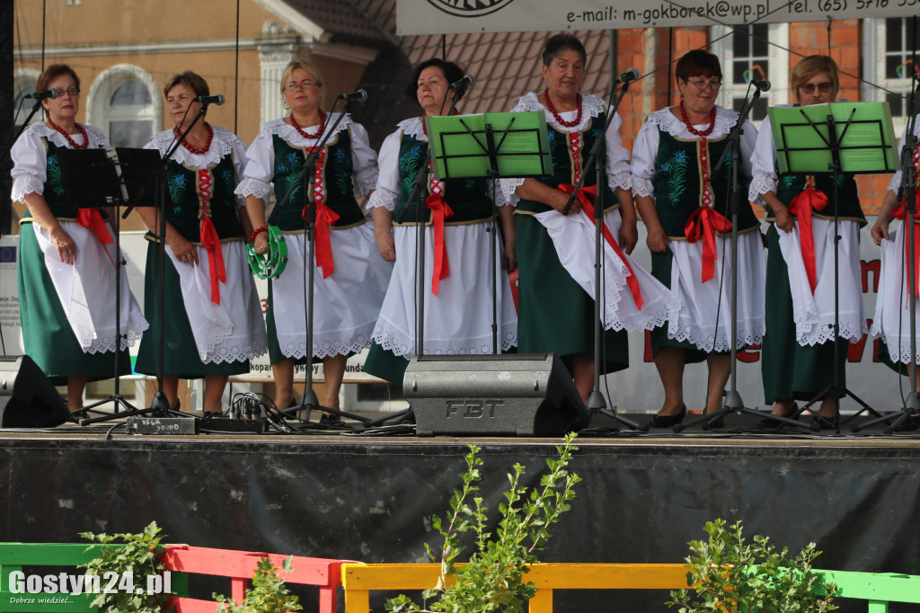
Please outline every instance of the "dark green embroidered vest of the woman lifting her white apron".
[[[588, 157], [591, 155], [591, 149], [592, 146], [594, 146], [594, 142], [601, 137], [601, 131], [604, 129], [604, 123], [606, 122], [605, 118], [606, 113], [601, 113], [597, 117], [593, 117], [588, 121], [588, 125], [585, 126], [585, 129], [578, 133], [581, 136], [581, 148], [579, 151], [579, 165], [581, 168], [584, 168], [584, 163], [587, 162]], [[549, 128], [546, 132], [549, 137], [549, 154], [553, 160], [553, 174], [546, 175], [545, 177], [536, 177], [536, 180], [548, 185], [554, 190], [558, 189], [560, 183], [574, 185], [574, 159], [571, 154], [571, 147], [569, 146], [572, 133], [563, 132], [552, 125], [547, 125], [547, 128]], [[596, 179], [597, 171], [592, 168], [585, 177], [584, 186], [591, 187], [597, 183]], [[619, 205], [614, 191], [611, 190], [608, 185], [604, 185], [604, 211], [610, 211], [617, 208]], [[543, 202], [524, 200], [523, 198], [518, 202], [516, 207], [517, 212], [527, 213], [544, 213], [552, 210], [552, 207]]]

